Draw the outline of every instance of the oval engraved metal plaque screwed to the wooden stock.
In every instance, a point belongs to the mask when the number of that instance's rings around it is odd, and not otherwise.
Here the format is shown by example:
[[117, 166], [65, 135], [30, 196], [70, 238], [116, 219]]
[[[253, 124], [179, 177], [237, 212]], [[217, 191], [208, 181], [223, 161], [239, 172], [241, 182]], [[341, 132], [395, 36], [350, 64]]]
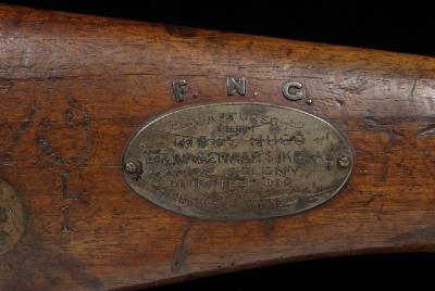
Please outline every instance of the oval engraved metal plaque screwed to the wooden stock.
[[148, 122], [123, 156], [128, 185], [146, 200], [195, 218], [284, 216], [332, 198], [353, 164], [349, 142], [298, 110], [224, 103]]

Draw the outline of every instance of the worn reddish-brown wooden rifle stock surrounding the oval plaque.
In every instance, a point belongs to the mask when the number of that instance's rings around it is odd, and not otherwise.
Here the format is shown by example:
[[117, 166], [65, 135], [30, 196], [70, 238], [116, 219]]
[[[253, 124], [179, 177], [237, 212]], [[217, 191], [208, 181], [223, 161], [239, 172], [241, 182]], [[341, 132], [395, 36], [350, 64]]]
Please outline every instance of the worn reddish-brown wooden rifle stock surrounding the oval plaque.
[[[426, 56], [0, 5], [0, 179], [27, 214], [21, 240], [1, 254], [0, 286], [133, 289], [433, 252], [434, 67]], [[227, 94], [228, 76], [246, 78], [246, 94]], [[303, 85], [302, 100], [284, 98], [289, 81]], [[306, 212], [241, 222], [189, 218], [128, 187], [123, 151], [147, 118], [224, 102], [335, 125], [355, 154], [347, 185]]]

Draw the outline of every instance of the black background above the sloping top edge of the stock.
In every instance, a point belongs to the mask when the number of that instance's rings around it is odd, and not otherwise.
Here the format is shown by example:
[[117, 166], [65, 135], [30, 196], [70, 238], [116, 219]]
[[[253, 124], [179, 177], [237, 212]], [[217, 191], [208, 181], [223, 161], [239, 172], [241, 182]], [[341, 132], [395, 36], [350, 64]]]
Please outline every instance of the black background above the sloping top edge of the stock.
[[[0, 2], [109, 17], [435, 55], [434, 8], [417, 1], [61, 1]], [[430, 1], [427, 1], [430, 2]]]

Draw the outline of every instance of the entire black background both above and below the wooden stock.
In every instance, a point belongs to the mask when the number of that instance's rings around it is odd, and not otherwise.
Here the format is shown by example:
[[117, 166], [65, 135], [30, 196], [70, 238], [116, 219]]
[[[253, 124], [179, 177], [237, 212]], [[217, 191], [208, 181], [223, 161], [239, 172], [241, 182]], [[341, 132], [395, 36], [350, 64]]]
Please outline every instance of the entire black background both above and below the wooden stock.
[[[1, 1], [33, 8], [435, 56], [431, 4], [362, 1]], [[430, 2], [428, 2], [430, 3]], [[426, 284], [434, 254], [376, 254], [300, 262], [163, 290], [290, 290]]]

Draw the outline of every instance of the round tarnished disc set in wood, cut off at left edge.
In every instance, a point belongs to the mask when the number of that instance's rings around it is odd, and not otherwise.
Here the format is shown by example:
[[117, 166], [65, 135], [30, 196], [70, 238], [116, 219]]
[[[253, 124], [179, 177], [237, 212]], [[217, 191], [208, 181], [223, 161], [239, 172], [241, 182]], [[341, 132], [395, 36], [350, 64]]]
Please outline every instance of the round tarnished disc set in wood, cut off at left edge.
[[0, 254], [14, 248], [26, 228], [23, 199], [8, 182], [0, 180]]

